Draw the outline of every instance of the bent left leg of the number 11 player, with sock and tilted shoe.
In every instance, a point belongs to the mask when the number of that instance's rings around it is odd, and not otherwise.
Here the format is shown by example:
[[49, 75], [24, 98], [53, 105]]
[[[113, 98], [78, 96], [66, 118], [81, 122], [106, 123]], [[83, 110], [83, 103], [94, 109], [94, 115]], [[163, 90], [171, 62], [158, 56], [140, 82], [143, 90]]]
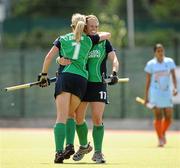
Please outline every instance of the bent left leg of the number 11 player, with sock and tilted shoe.
[[88, 143], [88, 126], [85, 121], [86, 110], [88, 107], [88, 102], [81, 102], [76, 110], [76, 132], [79, 139], [79, 150], [74, 154], [73, 160], [81, 160], [85, 154], [92, 151], [92, 147]]

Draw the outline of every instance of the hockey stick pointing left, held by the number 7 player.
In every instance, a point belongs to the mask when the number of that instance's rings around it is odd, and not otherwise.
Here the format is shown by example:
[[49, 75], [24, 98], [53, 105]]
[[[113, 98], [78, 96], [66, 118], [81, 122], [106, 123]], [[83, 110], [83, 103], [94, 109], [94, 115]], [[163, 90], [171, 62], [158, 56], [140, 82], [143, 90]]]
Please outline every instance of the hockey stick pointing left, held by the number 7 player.
[[[49, 79], [50, 83], [55, 82], [56, 81], [56, 77], [50, 78]], [[10, 91], [14, 91], [14, 90], [18, 90], [18, 89], [26, 89], [26, 88], [30, 88], [32, 86], [37, 86], [39, 85], [40, 82], [36, 81], [36, 82], [30, 82], [30, 83], [26, 83], [26, 84], [22, 84], [22, 85], [16, 85], [16, 86], [11, 86], [11, 87], [6, 87], [4, 88], [4, 90], [6, 92], [10, 92]]]

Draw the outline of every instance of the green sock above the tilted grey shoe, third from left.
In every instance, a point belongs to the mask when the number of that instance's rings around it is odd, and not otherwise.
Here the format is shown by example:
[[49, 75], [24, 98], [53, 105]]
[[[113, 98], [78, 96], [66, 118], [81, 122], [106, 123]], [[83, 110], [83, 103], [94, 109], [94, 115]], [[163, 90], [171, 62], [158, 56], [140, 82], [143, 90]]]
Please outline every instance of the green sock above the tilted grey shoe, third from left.
[[76, 132], [81, 146], [87, 145], [88, 126], [87, 123], [76, 125]]

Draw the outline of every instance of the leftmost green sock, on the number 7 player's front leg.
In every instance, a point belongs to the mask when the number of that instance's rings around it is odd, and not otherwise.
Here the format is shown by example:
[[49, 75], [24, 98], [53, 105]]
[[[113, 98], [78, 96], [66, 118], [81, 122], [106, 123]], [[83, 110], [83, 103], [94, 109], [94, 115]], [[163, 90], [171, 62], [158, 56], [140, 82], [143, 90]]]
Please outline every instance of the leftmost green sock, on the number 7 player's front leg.
[[54, 126], [56, 152], [64, 149], [64, 140], [66, 136], [65, 129], [66, 125], [64, 123], [56, 123]]

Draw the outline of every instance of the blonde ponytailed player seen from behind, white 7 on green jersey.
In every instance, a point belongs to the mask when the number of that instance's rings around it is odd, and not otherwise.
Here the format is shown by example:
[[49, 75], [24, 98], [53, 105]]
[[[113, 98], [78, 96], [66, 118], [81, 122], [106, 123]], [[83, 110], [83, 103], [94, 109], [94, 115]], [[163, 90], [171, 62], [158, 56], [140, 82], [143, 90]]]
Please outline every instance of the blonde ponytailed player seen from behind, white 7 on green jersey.
[[[85, 65], [88, 53], [93, 44], [103, 40], [104, 37], [110, 36], [109, 33], [105, 36], [86, 36], [83, 33], [86, 25], [84, 15], [74, 14], [71, 21], [73, 32], [59, 37], [54, 42], [54, 46], [45, 57], [42, 73], [38, 77], [41, 87], [49, 85], [47, 76], [49, 65], [53, 56], [58, 52], [60, 56], [66, 56], [66, 58], [71, 60], [71, 64], [65, 66], [61, 75], [57, 77], [55, 86], [57, 109], [57, 119], [54, 126], [56, 145], [55, 163], [63, 163], [64, 160], [63, 149], [66, 129], [69, 129], [70, 133], [75, 130], [75, 124], [67, 121], [67, 117], [69, 112], [73, 113], [75, 111], [86, 91], [88, 72]], [[66, 124], [70, 127], [67, 128]], [[74, 151], [71, 152], [74, 153]]]

